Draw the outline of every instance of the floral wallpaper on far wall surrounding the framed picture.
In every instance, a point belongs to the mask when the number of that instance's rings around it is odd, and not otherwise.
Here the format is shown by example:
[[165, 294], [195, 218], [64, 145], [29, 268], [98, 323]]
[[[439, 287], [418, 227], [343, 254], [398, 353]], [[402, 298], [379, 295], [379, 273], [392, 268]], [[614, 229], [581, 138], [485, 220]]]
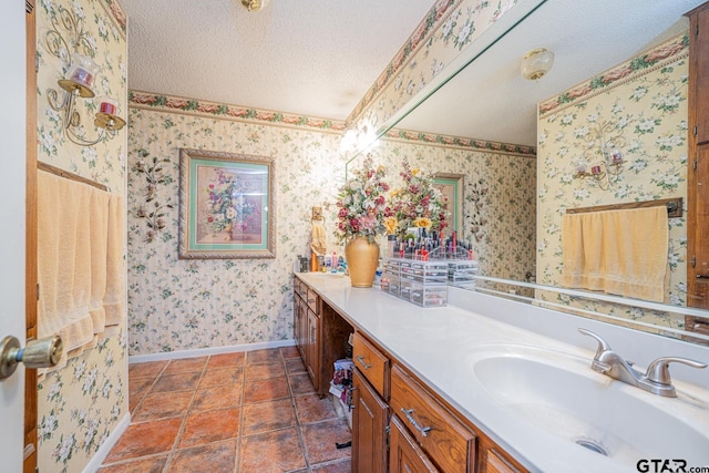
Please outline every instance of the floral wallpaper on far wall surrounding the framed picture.
[[[195, 112], [130, 111], [131, 354], [291, 339], [292, 269], [298, 256], [309, 255], [311, 207], [335, 202], [345, 175], [339, 133]], [[177, 258], [181, 147], [275, 158], [275, 259]], [[152, 194], [164, 226], [148, 241], [152, 228], [137, 215], [148, 192], [138, 163], [154, 158], [164, 160]]]

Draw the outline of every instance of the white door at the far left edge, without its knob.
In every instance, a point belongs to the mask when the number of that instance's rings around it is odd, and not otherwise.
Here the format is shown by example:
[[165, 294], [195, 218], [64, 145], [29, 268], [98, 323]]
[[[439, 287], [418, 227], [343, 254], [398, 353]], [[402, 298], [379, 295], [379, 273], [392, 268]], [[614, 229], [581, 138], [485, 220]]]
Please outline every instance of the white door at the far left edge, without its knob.
[[[0, 339], [24, 346], [24, 2], [0, 2]], [[2, 471], [22, 471], [24, 367], [0, 381]]]

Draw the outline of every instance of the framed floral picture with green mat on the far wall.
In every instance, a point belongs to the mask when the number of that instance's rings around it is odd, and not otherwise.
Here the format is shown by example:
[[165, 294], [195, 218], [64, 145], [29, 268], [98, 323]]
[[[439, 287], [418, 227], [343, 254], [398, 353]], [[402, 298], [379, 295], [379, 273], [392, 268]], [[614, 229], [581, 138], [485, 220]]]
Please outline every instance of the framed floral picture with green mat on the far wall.
[[179, 258], [275, 258], [271, 157], [179, 150]]

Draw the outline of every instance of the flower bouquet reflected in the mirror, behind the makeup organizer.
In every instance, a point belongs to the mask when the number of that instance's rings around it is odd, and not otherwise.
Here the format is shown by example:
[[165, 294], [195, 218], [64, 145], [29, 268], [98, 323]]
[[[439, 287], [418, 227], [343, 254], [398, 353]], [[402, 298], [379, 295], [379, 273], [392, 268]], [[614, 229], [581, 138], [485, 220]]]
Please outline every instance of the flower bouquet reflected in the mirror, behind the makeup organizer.
[[403, 239], [409, 228], [442, 230], [446, 226], [446, 199], [433, 184], [433, 174], [411, 168], [405, 158], [401, 164], [403, 185], [390, 193], [390, 207], [384, 212], [387, 233]]

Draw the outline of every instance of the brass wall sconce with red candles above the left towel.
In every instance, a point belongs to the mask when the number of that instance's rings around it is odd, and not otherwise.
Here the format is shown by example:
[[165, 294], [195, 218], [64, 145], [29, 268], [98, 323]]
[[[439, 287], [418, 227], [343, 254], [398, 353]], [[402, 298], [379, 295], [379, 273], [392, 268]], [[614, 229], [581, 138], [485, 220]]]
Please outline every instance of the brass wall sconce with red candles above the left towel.
[[[63, 92], [55, 89], [50, 89], [47, 92], [49, 105], [55, 112], [60, 112], [66, 137], [81, 146], [91, 146], [106, 137], [115, 137], [119, 130], [125, 126], [125, 121], [116, 115], [119, 102], [111, 97], [100, 99], [99, 111], [94, 114], [93, 124], [100, 130], [99, 136], [95, 140], [86, 140], [83, 136], [81, 114], [76, 110], [78, 99], [93, 99], [95, 96], [93, 84], [101, 71], [101, 68], [92, 59], [95, 52], [83, 30], [83, 21], [76, 19], [63, 7], [59, 8], [58, 14], [51, 21], [52, 29], [44, 37], [48, 50], [62, 61], [66, 61], [70, 55], [69, 44], [72, 44], [72, 49], [75, 51], [71, 54], [72, 62], [66, 78], [58, 81]], [[60, 23], [65, 32], [73, 34], [69, 42], [60, 32]], [[79, 53], [80, 48], [84, 54]], [[62, 94], [61, 99], [60, 93]], [[93, 106], [89, 109], [91, 110]]]

